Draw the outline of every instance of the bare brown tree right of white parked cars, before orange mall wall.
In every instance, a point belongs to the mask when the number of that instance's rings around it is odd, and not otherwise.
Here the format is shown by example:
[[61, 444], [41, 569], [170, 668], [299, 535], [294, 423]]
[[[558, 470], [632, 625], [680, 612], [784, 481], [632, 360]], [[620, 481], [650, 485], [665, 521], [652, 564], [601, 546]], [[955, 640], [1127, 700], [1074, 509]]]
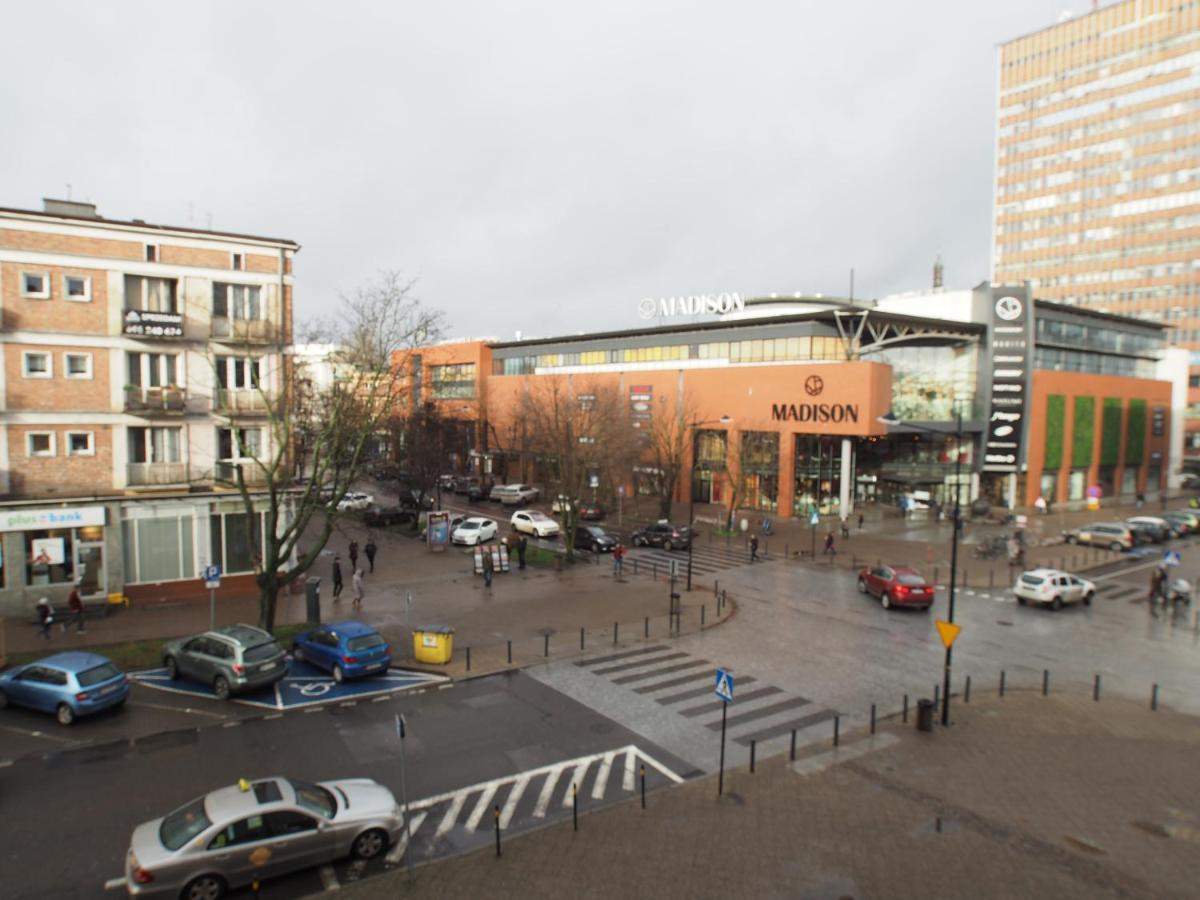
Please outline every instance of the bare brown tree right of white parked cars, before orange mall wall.
[[517, 415], [544, 474], [544, 486], [564, 498], [560, 509], [566, 558], [575, 558], [578, 499], [610, 454], [628, 443], [629, 422], [614, 388], [547, 376], [526, 385]]

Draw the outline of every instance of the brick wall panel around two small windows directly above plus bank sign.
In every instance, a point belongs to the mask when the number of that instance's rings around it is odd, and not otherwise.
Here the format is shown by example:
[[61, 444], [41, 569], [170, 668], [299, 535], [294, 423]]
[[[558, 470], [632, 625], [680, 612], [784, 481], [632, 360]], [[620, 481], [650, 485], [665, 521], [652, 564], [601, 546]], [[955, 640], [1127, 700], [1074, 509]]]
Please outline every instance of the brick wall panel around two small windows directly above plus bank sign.
[[[79, 497], [113, 490], [113, 436], [109, 425], [10, 425], [10, 497]], [[28, 455], [29, 432], [53, 432], [54, 456]], [[90, 456], [67, 454], [67, 432], [92, 432]]]

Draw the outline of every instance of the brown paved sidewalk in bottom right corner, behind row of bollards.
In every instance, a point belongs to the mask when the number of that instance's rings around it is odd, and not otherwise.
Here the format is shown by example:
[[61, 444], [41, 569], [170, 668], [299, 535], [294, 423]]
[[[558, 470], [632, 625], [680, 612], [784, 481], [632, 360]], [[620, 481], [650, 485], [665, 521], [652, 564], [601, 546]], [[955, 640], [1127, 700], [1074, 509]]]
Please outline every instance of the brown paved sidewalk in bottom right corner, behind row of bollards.
[[1200, 720], [1009, 694], [343, 886], [460, 896], [1152, 898], [1200, 880]]

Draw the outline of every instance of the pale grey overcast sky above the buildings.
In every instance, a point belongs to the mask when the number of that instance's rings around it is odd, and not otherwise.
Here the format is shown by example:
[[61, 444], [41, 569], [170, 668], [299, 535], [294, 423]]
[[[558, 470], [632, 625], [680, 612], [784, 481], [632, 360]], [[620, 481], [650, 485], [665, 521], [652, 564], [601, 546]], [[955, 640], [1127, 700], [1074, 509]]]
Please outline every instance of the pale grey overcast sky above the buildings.
[[0, 205], [290, 238], [448, 336], [989, 275], [996, 44], [1087, 0], [10, 4]]

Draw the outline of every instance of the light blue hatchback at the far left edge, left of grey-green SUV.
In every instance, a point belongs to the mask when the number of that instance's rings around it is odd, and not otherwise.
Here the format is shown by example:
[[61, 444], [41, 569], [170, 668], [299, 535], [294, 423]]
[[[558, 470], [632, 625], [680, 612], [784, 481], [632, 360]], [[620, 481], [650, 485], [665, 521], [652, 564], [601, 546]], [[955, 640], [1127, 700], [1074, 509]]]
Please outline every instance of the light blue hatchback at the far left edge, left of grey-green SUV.
[[130, 679], [107, 656], [83, 650], [17, 666], [0, 674], [0, 708], [10, 703], [54, 713], [62, 725], [116, 707], [130, 696]]

